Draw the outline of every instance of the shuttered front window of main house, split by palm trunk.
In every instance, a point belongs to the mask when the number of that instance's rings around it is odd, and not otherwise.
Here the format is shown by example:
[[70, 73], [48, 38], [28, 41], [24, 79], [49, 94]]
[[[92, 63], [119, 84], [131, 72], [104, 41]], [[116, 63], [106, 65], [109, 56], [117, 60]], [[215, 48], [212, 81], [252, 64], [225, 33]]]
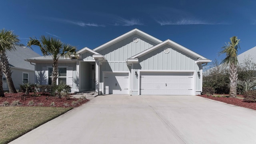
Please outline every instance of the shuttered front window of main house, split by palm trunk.
[[[53, 68], [48, 68], [48, 84], [52, 84], [52, 70]], [[67, 68], [58, 68], [58, 79], [57, 84], [66, 84], [67, 81]]]

